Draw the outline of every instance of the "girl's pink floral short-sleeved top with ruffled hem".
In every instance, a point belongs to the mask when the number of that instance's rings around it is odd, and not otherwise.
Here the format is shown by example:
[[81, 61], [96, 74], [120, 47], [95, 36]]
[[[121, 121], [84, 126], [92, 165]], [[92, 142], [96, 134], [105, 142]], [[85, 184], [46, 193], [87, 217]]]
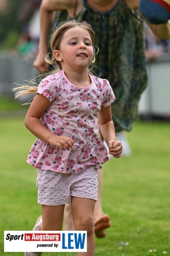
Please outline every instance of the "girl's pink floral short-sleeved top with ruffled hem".
[[98, 111], [110, 105], [115, 96], [106, 79], [89, 76], [88, 87], [76, 87], [63, 71], [40, 82], [38, 93], [52, 103], [40, 121], [56, 136], [71, 137], [74, 147], [63, 151], [37, 139], [27, 159], [33, 167], [73, 174], [91, 166], [101, 168], [110, 159], [107, 148], [97, 137]]

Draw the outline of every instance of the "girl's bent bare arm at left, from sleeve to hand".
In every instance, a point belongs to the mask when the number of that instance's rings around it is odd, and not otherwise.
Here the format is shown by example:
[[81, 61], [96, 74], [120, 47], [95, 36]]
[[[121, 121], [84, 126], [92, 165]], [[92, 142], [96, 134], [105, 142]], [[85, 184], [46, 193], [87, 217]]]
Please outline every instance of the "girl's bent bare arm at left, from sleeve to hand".
[[40, 94], [36, 94], [25, 117], [25, 126], [33, 135], [60, 149], [71, 149], [73, 140], [66, 136], [57, 136], [46, 129], [40, 122], [40, 117], [50, 106], [50, 101]]

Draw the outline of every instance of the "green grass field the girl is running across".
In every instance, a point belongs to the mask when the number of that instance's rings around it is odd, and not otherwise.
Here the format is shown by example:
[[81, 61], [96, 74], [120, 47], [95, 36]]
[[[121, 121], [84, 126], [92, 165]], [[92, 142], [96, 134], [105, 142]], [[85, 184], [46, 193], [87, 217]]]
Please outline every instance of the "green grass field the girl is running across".
[[[36, 169], [26, 164], [35, 138], [23, 119], [0, 119], [0, 255], [23, 255], [4, 252], [4, 230], [32, 230], [40, 214]], [[136, 122], [127, 138], [131, 156], [103, 165], [103, 208], [112, 225], [96, 239], [96, 255], [170, 255], [169, 123]]]

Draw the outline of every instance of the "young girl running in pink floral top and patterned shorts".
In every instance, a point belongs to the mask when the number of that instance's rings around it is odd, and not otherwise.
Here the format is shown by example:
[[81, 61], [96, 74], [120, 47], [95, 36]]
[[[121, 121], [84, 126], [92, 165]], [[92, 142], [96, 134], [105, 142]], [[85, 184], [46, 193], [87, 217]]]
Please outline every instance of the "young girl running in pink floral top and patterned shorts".
[[[59, 69], [44, 78], [38, 88], [26, 87], [19, 93], [36, 91], [25, 125], [38, 137], [27, 161], [38, 169], [43, 220], [39, 230], [62, 230], [64, 205], [71, 202], [75, 230], [87, 231], [87, 252], [77, 255], [92, 256], [97, 169], [110, 159], [109, 154], [118, 158], [122, 152], [111, 116], [115, 97], [106, 79], [89, 72], [95, 59], [94, 32], [89, 24], [60, 24], [50, 46], [53, 55], [46, 61]], [[98, 124], [109, 152], [98, 138]], [[27, 256], [40, 254], [25, 252]]]

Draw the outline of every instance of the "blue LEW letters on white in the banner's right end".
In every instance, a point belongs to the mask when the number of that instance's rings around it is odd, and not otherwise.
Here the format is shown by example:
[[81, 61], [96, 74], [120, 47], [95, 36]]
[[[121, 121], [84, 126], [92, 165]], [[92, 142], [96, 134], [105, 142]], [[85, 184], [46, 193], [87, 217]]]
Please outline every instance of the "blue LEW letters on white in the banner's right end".
[[87, 248], [87, 232], [68, 232], [62, 234], [63, 250], [83, 250]]

